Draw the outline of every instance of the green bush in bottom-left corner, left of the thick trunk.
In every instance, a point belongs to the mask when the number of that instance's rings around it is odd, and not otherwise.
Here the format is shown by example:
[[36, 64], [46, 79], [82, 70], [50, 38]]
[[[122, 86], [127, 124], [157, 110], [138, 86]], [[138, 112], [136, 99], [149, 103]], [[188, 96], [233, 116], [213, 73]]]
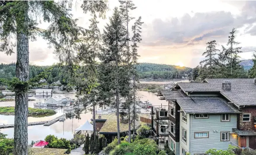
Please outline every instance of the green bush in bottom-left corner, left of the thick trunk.
[[12, 155], [14, 151], [14, 139], [0, 139], [1, 155]]

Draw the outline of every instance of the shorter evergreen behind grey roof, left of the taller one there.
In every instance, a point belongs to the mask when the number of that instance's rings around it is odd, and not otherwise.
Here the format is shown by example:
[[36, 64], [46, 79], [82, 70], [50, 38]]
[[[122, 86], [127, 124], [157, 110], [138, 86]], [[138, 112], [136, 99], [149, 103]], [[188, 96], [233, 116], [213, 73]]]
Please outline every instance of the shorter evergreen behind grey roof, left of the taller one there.
[[204, 68], [207, 69], [208, 77], [214, 77], [214, 70], [216, 69], [217, 59], [214, 57], [219, 49], [216, 49], [216, 41], [212, 40], [206, 43], [208, 46], [206, 47], [206, 51], [202, 54], [205, 55], [205, 60], [201, 61], [200, 64], [203, 64]]

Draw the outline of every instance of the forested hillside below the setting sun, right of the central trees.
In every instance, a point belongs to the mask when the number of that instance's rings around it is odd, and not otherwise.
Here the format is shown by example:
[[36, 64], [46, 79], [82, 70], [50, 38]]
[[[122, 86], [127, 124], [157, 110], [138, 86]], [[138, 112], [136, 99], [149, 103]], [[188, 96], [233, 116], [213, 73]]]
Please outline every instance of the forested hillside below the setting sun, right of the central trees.
[[136, 66], [140, 79], [181, 79], [188, 77], [191, 68], [156, 63], [139, 63]]

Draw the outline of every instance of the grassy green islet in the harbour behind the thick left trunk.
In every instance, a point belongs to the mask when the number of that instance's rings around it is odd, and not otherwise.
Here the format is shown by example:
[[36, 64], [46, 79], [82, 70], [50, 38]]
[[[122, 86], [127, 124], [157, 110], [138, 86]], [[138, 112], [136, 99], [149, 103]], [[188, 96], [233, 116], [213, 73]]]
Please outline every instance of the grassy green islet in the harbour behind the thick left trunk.
[[[54, 115], [56, 112], [50, 109], [37, 109], [28, 107], [28, 116], [49, 116]], [[14, 106], [0, 107], [0, 115], [14, 115]]]

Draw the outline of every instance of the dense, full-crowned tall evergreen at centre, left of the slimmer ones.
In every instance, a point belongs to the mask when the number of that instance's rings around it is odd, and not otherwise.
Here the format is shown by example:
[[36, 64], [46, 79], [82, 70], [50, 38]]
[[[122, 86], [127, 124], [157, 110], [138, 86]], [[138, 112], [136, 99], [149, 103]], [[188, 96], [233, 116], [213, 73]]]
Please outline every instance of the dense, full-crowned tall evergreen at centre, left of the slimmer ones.
[[[104, 48], [100, 53], [100, 85], [115, 96], [115, 106], [117, 108], [117, 131], [118, 144], [120, 144], [120, 120], [119, 120], [119, 101], [120, 97], [129, 85], [129, 72], [125, 66], [125, 45], [126, 29], [123, 26], [123, 18], [117, 7], [110, 18], [110, 23], [105, 26], [103, 34]], [[109, 96], [108, 98], [111, 98]], [[113, 98], [113, 96], [112, 96]]]

